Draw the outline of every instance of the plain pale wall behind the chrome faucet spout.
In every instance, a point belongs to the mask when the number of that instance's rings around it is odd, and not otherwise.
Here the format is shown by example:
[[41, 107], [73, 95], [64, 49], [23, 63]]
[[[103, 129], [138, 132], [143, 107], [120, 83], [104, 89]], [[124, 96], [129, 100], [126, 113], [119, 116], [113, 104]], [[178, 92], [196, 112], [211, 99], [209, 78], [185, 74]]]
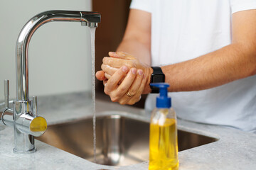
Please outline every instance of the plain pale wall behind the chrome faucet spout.
[[[4, 99], [4, 79], [10, 80], [10, 98], [16, 98], [15, 47], [21, 28], [37, 13], [48, 10], [91, 11], [91, 1], [0, 1], [0, 100]], [[28, 58], [30, 96], [91, 90], [88, 27], [46, 23], [33, 34]]]

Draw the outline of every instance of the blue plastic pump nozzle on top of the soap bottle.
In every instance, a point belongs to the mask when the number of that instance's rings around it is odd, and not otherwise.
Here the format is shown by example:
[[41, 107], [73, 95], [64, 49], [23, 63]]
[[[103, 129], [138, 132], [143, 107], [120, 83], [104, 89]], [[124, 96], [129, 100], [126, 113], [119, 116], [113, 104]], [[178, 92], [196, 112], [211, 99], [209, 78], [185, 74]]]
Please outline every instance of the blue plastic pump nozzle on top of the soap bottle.
[[156, 108], [171, 108], [171, 98], [168, 96], [169, 84], [153, 83], [150, 86], [159, 88], [159, 96], [156, 97]]

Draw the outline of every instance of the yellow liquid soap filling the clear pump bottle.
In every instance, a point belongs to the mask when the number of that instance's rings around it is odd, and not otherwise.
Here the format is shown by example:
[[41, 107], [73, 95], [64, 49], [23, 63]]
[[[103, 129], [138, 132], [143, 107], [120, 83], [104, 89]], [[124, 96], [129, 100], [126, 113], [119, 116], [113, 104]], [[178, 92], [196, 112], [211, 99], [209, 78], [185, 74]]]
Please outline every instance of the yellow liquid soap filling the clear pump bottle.
[[164, 125], [150, 124], [149, 170], [178, 169], [176, 120], [166, 118]]

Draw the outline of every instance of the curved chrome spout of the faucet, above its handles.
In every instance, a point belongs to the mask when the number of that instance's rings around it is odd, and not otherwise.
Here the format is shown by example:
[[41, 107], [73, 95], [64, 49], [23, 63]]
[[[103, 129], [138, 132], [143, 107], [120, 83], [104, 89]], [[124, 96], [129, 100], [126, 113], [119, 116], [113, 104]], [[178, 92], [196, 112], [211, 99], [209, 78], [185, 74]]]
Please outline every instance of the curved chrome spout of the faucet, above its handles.
[[82, 26], [97, 27], [100, 13], [87, 11], [46, 11], [31, 18], [22, 28], [16, 42], [16, 94], [17, 101], [28, 101], [28, 45], [33, 33], [50, 21], [75, 21]]

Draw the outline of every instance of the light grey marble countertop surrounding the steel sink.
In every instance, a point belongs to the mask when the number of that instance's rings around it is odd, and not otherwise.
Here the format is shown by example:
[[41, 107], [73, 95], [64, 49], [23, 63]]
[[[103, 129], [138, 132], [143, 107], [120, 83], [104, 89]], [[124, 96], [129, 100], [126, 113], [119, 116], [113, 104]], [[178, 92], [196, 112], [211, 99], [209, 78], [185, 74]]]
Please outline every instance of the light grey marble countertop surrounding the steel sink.
[[[108, 111], [149, 121], [149, 114], [131, 106], [96, 100], [96, 113]], [[87, 113], [87, 114], [85, 114]], [[38, 97], [38, 115], [48, 125], [92, 116], [92, 100], [85, 93]], [[256, 169], [256, 134], [217, 125], [178, 120], [178, 129], [217, 138], [217, 142], [178, 153], [179, 169]], [[104, 166], [36, 140], [37, 152], [14, 154], [13, 128], [0, 125], [0, 169], [148, 169], [148, 162], [130, 166]]]

